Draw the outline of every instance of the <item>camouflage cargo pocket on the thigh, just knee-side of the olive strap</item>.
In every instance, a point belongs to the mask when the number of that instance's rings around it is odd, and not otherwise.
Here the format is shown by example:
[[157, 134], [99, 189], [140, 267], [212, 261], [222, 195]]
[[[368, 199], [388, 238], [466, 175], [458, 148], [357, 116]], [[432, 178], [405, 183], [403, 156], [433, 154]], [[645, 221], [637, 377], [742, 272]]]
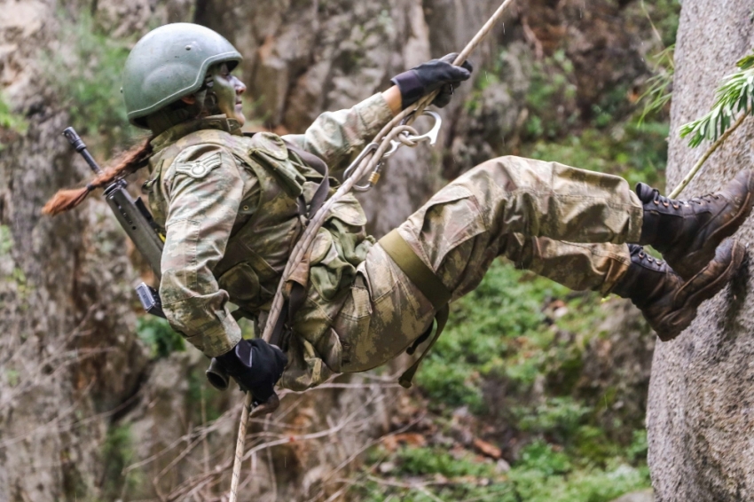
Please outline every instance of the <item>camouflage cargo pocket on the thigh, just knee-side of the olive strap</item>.
[[433, 271], [453, 249], [487, 230], [474, 195], [457, 184], [437, 192], [402, 228], [413, 234], [416, 242], [409, 245], [420, 247], [420, 258]]

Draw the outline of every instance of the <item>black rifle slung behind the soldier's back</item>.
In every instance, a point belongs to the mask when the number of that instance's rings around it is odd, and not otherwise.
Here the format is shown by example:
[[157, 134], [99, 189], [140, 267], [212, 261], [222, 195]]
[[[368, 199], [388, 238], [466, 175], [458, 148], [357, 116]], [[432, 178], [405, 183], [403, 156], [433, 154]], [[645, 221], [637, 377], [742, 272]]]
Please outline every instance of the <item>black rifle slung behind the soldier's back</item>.
[[[94, 174], [101, 175], [102, 169], [98, 166], [97, 161], [91, 156], [86, 145], [84, 145], [82, 138], [76, 134], [74, 128], [69, 127], [63, 131], [68, 142], [75, 148], [75, 151], [80, 153], [83, 160], [89, 165], [90, 169], [94, 171]], [[161, 271], [161, 259], [162, 259], [162, 247], [163, 237], [160, 233], [160, 228], [154, 222], [152, 214], [141, 197], [134, 199], [131, 194], [126, 190], [128, 184], [126, 180], [119, 179], [105, 188], [105, 200], [107, 205], [113, 211], [118, 223], [134, 245], [138, 249], [138, 252], [144, 255], [149, 266], [152, 268], [155, 277], [160, 280], [162, 277]], [[162, 302], [160, 301], [160, 293], [152, 286], [142, 282], [136, 286], [136, 293], [139, 302], [141, 302], [144, 310], [157, 316], [158, 318], [165, 318], [165, 312], [162, 310]], [[213, 358], [209, 364], [207, 370], [207, 379], [215, 388], [224, 390], [228, 388], [230, 380], [228, 374], [221, 368], [216, 359]]]

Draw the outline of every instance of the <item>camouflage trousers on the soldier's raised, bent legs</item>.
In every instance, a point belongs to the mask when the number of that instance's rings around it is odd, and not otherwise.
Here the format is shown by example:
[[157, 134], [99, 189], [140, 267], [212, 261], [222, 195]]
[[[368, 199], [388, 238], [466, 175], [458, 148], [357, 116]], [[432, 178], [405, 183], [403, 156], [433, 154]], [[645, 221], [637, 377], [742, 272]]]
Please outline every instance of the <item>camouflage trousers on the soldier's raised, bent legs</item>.
[[[621, 177], [501, 157], [437, 192], [398, 232], [453, 299], [478, 286], [500, 255], [572, 289], [608, 294], [628, 270], [624, 243], [639, 240], [642, 217]], [[434, 315], [419, 288], [375, 245], [332, 326], [342, 344], [340, 371], [365, 371], [396, 357]]]

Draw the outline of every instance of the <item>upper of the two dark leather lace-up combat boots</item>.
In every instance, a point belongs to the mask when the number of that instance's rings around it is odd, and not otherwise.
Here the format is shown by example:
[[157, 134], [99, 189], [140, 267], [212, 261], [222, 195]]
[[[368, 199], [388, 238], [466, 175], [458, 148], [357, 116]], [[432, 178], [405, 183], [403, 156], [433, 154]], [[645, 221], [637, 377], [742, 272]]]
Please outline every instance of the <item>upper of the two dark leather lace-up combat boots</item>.
[[643, 183], [636, 185], [636, 194], [644, 205], [639, 244], [655, 247], [673, 271], [690, 279], [749, 216], [754, 171], [742, 170], [721, 192], [691, 200], [668, 199]]

